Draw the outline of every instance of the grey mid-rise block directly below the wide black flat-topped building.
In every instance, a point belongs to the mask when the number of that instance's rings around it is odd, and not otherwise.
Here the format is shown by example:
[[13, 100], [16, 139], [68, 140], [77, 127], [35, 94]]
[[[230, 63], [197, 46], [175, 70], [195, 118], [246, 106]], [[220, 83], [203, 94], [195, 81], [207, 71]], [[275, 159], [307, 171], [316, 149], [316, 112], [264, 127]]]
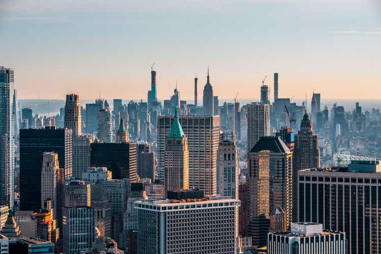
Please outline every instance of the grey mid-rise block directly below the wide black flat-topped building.
[[112, 179], [102, 182], [107, 199], [111, 204], [111, 237], [119, 241], [122, 232], [123, 213], [126, 211], [127, 192], [130, 189], [128, 179]]

